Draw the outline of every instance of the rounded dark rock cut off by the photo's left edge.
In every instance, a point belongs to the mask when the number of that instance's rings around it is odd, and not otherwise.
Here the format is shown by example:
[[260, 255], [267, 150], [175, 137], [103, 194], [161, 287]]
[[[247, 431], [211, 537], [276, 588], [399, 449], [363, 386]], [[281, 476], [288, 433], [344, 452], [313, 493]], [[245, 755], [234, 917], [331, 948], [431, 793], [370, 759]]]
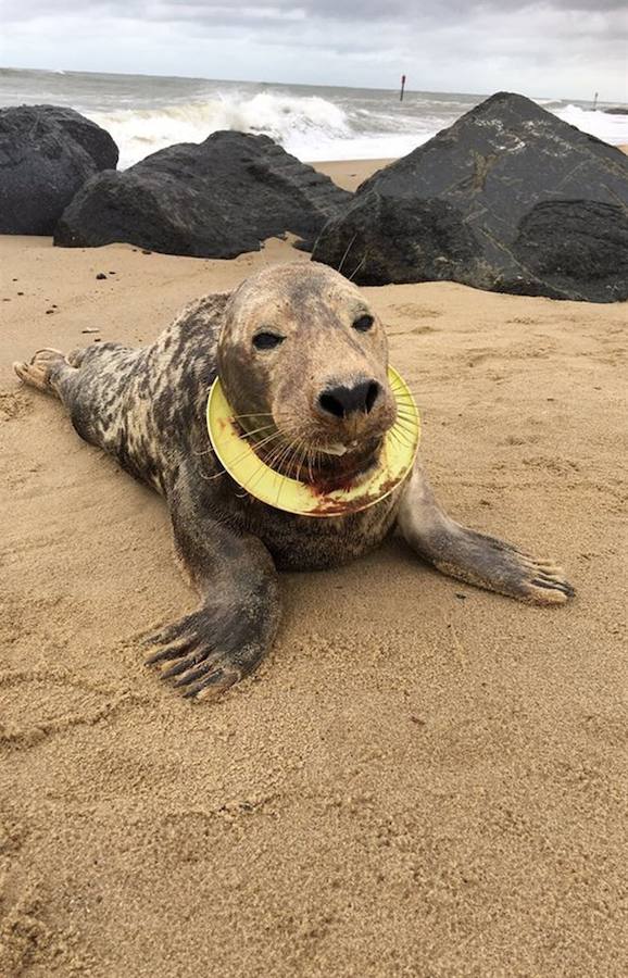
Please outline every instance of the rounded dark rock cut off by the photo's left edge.
[[51, 235], [85, 181], [116, 165], [109, 133], [73, 109], [0, 109], [0, 234]]

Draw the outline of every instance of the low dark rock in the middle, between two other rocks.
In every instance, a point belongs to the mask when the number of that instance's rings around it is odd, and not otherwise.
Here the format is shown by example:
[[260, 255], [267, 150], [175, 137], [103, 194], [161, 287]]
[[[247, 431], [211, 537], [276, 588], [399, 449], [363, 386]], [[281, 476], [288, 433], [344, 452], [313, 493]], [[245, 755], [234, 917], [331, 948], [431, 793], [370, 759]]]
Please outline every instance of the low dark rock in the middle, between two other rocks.
[[350, 199], [267, 136], [214, 133], [92, 177], [64, 212], [54, 243], [126, 241], [166, 254], [235, 258], [286, 231], [313, 239]]

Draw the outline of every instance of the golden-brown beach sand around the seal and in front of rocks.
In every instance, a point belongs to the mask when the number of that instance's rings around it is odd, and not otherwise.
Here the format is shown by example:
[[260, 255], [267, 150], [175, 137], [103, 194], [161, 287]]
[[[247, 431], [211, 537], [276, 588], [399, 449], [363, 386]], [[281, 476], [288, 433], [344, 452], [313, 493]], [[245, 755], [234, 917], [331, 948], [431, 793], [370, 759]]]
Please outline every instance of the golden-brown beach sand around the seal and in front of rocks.
[[286, 575], [271, 656], [215, 705], [143, 665], [194, 604], [164, 505], [10, 363], [150, 341], [286, 260], [0, 239], [0, 974], [624, 975], [625, 306], [367, 290], [439, 496], [560, 557], [573, 605], [390, 542]]

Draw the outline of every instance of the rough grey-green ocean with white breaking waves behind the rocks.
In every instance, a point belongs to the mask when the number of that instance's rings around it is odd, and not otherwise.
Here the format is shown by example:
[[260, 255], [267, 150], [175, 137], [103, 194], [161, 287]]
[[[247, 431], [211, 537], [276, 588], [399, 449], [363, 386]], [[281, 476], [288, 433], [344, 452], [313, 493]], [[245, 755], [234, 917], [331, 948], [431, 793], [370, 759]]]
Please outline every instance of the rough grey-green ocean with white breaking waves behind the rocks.
[[[174, 142], [201, 142], [217, 129], [264, 133], [301, 160], [401, 156], [486, 96], [467, 92], [322, 88], [272, 82], [212, 82], [0, 68], [0, 106], [68, 105], [105, 128], [121, 167]], [[600, 102], [537, 99], [560, 118], [614, 145], [628, 143], [628, 115]]]

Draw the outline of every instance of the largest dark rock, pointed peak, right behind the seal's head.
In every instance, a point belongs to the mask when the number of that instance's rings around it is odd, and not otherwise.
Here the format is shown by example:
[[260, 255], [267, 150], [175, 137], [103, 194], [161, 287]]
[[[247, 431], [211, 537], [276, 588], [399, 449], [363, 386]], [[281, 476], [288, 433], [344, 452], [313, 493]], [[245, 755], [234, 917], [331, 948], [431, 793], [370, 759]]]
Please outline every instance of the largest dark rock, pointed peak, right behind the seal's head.
[[628, 158], [500, 92], [362, 184], [313, 258], [362, 285], [628, 298]]

